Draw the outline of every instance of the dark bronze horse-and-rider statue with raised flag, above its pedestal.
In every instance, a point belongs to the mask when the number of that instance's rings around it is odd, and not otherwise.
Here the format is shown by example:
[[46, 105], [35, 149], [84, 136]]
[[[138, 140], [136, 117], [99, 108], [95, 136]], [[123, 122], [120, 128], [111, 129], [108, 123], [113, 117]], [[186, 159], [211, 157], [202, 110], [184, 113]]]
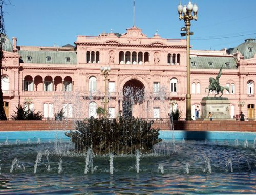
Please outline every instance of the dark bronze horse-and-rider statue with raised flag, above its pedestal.
[[[222, 66], [221, 66], [221, 69], [219, 71], [219, 74], [216, 76], [216, 79], [210, 77], [209, 87], [205, 88], [205, 92], [206, 92], [206, 89], [209, 90], [207, 97], [209, 96], [210, 91], [216, 91], [216, 94], [214, 95], [214, 97], [216, 97], [216, 95], [219, 95], [219, 92], [221, 92], [221, 96], [222, 96], [224, 89], [226, 89], [229, 92], [229, 87], [223, 87], [219, 83], [219, 78], [221, 77], [221, 70], [222, 70]], [[219, 96], [219, 97], [221, 97], [221, 96]]]

